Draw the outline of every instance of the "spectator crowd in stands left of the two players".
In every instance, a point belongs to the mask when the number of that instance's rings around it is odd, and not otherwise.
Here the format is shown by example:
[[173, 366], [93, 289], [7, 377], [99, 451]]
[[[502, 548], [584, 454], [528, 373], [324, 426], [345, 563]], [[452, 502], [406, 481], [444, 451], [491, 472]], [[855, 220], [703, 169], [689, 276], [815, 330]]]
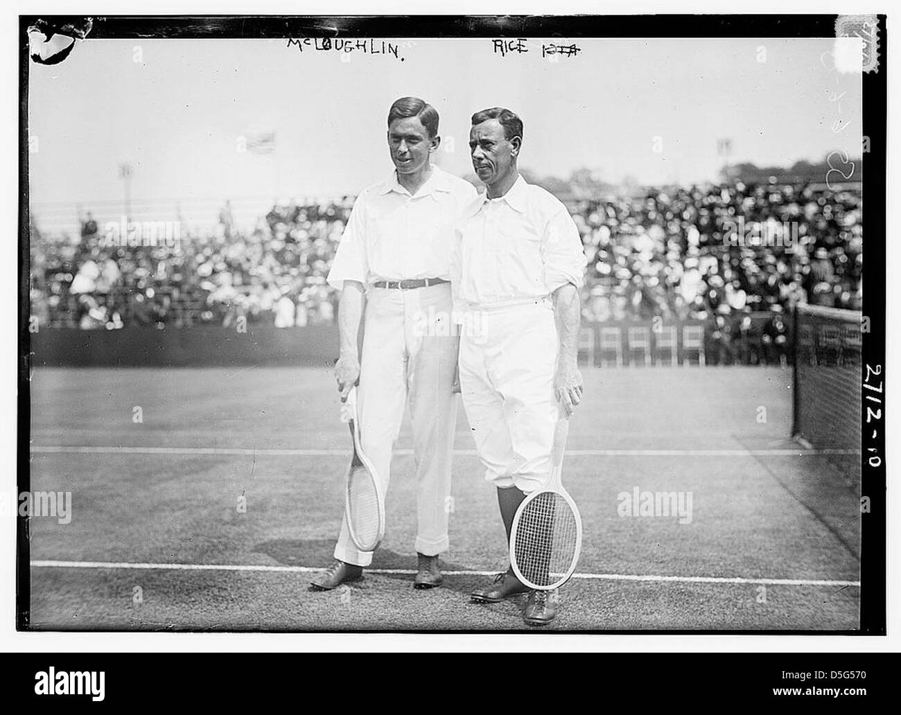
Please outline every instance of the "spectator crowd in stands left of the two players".
[[274, 206], [252, 231], [236, 230], [226, 206], [211, 231], [169, 243], [137, 236], [134, 246], [110, 245], [90, 217], [78, 240], [32, 226], [32, 314], [83, 329], [332, 322], [337, 296], [325, 276], [351, 206]]

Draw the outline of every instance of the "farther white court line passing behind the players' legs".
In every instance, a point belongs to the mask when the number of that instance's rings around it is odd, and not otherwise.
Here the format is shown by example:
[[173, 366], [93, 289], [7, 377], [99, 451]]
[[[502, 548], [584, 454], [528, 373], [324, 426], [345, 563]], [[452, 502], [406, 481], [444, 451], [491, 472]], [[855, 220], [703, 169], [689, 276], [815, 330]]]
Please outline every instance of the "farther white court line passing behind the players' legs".
[[[118, 455], [257, 455], [260, 457], [346, 457], [348, 449], [254, 449], [237, 447], [56, 447], [33, 445], [35, 454]], [[413, 449], [395, 449], [409, 456]], [[454, 449], [455, 455], [474, 457], [475, 449]], [[860, 455], [860, 449], [568, 449], [568, 457], [816, 457]]]

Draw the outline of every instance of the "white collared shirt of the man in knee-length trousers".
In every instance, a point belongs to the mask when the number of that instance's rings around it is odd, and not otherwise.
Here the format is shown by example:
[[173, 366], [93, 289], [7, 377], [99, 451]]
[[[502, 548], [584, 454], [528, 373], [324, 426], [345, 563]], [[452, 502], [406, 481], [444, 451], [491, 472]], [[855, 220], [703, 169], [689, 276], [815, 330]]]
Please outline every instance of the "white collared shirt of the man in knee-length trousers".
[[533, 302], [567, 283], [581, 287], [586, 264], [566, 206], [519, 176], [503, 196], [479, 194], [460, 221], [451, 256], [454, 311]]

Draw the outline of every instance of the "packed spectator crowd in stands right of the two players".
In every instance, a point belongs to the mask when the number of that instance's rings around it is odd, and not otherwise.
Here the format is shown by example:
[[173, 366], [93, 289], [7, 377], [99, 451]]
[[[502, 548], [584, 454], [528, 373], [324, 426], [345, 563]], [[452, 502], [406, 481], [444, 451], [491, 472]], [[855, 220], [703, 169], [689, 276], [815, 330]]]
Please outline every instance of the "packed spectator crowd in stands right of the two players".
[[741, 182], [582, 202], [585, 317], [700, 321], [714, 362], [778, 362], [796, 303], [860, 310], [861, 211], [859, 190]]

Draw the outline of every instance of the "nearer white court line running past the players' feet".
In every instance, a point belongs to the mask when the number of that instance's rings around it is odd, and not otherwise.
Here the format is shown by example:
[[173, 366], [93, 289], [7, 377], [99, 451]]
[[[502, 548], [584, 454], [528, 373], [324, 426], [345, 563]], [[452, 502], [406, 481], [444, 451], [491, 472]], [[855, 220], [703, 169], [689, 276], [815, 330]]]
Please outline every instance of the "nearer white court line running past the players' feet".
[[[258, 571], [310, 574], [313, 566], [263, 566], [244, 564], [142, 564], [115, 561], [32, 561], [32, 568], [109, 568], [153, 571]], [[412, 568], [368, 568], [369, 574], [414, 575]], [[496, 571], [443, 571], [446, 576], [493, 576]], [[860, 581], [817, 581], [804, 578], [740, 578], [722, 576], [662, 576], [633, 574], [573, 574], [572, 578], [601, 581], [658, 581], [678, 584], [766, 584], [782, 586], [860, 586]]]

